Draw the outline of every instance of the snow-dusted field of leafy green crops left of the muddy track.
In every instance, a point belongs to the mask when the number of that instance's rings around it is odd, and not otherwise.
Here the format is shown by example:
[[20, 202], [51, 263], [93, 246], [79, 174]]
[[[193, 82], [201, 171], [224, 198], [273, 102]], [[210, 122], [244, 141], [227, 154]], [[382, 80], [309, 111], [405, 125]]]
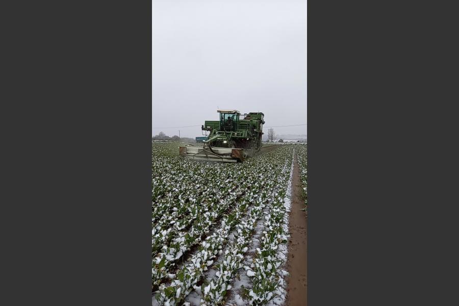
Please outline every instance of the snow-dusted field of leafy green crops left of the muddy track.
[[152, 303], [282, 305], [293, 158], [305, 165], [305, 145], [237, 164], [186, 160], [178, 146], [152, 144]]

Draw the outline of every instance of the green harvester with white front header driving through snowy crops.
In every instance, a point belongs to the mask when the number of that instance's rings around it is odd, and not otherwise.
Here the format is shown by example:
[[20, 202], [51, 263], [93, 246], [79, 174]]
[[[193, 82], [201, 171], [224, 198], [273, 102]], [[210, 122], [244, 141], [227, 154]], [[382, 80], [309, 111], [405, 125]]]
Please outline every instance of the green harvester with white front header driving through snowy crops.
[[243, 114], [237, 110], [217, 110], [218, 121], [205, 121], [202, 131], [210, 132], [203, 145], [179, 147], [180, 156], [185, 158], [216, 161], [243, 162], [258, 152], [262, 145], [263, 113]]

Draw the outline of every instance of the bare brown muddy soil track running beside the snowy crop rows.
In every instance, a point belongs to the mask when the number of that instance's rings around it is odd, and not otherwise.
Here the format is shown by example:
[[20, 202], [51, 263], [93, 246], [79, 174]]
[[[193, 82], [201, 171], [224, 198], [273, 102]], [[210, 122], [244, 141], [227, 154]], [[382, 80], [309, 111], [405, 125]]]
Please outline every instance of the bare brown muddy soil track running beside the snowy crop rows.
[[292, 209], [290, 211], [290, 240], [287, 268], [286, 306], [306, 306], [308, 297], [308, 219], [302, 211], [301, 180], [298, 171], [297, 156], [293, 164]]

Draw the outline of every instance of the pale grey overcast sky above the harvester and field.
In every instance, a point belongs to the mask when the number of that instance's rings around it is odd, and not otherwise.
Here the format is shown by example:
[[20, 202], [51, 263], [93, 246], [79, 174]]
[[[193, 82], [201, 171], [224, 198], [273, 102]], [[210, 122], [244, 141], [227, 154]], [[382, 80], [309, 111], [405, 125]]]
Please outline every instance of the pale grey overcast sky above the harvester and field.
[[[307, 123], [305, 0], [153, 0], [152, 135], [201, 136], [217, 107]], [[199, 125], [180, 129], [166, 127]], [[265, 134], [268, 133], [264, 129]], [[307, 125], [274, 127], [307, 134]]]

